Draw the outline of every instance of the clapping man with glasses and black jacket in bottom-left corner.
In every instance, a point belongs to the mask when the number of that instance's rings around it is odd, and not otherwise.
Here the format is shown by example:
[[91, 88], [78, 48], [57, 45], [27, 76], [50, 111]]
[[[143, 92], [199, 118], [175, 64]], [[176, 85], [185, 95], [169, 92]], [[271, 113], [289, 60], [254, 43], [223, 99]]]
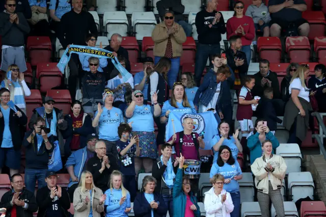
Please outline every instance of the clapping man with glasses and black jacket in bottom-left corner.
[[33, 217], [38, 206], [33, 193], [23, 189], [24, 182], [20, 174], [11, 176], [12, 190], [4, 194], [0, 201], [0, 208], [6, 208], [6, 216]]

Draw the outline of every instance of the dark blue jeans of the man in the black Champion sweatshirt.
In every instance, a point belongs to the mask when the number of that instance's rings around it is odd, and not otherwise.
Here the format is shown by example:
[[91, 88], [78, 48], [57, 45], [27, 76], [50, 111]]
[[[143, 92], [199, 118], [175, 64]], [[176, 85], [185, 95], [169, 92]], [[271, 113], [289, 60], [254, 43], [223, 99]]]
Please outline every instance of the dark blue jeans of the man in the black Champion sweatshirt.
[[[197, 45], [196, 52], [196, 63], [195, 63], [195, 80], [197, 87], [200, 86], [200, 80], [202, 78], [202, 74], [204, 68], [207, 63], [207, 58], [211, 55], [215, 55], [216, 53], [221, 53], [221, 47], [219, 44], [201, 44]], [[211, 61], [209, 61], [209, 66], [212, 66]]]

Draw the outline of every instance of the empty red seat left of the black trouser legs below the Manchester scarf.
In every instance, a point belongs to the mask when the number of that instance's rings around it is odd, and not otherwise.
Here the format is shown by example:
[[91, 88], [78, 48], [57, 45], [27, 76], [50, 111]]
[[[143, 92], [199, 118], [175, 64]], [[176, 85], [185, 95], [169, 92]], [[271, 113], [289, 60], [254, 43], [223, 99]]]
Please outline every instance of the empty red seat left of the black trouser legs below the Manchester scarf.
[[59, 87], [63, 75], [57, 67], [57, 63], [39, 63], [36, 68], [36, 78], [40, 91], [45, 93], [51, 88]]

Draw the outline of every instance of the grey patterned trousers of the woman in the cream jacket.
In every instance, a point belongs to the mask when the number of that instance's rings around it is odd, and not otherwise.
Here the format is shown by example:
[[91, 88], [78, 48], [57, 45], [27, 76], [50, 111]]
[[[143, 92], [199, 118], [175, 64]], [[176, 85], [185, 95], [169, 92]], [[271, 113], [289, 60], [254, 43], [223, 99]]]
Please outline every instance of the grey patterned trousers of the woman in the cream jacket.
[[260, 206], [261, 216], [270, 217], [269, 200], [271, 200], [271, 203], [273, 203], [275, 207], [277, 216], [285, 217], [281, 190], [273, 190], [270, 181], [268, 181], [268, 194], [257, 192], [257, 199]]

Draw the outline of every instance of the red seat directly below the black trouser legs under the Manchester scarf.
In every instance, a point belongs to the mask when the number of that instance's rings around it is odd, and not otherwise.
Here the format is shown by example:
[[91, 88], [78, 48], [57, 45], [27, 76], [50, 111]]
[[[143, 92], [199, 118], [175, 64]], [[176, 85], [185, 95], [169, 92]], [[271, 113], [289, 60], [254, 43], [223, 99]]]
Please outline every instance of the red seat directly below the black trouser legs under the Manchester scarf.
[[68, 90], [48, 90], [46, 96], [52, 97], [56, 101], [56, 107], [67, 115], [71, 110], [71, 97]]

